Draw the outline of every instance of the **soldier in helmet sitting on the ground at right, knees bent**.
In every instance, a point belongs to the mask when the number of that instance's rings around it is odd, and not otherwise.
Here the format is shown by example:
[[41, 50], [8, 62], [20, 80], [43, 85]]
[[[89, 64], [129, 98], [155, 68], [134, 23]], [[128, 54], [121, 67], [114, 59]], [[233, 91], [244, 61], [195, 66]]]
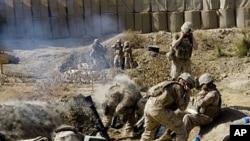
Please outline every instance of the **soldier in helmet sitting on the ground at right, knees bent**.
[[213, 81], [213, 76], [209, 73], [205, 73], [199, 78], [201, 90], [194, 100], [198, 114], [187, 114], [183, 118], [188, 133], [195, 126], [210, 124], [221, 111], [221, 94]]

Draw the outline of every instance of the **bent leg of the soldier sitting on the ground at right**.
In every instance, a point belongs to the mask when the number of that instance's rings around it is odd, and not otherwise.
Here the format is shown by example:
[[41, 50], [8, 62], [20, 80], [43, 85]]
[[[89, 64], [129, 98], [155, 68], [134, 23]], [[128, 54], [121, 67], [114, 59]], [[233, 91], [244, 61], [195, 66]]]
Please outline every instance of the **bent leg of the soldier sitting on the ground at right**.
[[187, 114], [183, 117], [183, 122], [186, 127], [187, 133], [189, 133], [195, 126], [201, 126], [211, 123], [212, 118], [203, 114]]

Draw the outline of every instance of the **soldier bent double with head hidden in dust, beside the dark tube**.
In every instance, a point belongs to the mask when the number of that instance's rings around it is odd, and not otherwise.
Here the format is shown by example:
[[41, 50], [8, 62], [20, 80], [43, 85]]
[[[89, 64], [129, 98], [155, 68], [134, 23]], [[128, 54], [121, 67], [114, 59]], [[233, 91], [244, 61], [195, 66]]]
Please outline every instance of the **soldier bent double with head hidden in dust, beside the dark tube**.
[[121, 81], [111, 86], [105, 93], [105, 100], [102, 104], [104, 117], [102, 122], [105, 128], [111, 125], [112, 117], [119, 116], [125, 123], [127, 135], [133, 135], [134, 124], [136, 122], [135, 112], [137, 102], [141, 94], [132, 82]]

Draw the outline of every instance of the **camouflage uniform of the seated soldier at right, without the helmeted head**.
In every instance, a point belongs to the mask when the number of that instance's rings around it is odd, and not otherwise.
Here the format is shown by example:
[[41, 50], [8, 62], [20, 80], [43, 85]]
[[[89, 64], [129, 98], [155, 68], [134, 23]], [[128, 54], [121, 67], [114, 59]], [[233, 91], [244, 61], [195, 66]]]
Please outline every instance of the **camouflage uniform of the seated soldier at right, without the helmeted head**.
[[215, 88], [209, 91], [200, 91], [194, 101], [194, 106], [198, 114], [187, 114], [183, 121], [187, 132], [190, 132], [195, 126], [202, 126], [211, 123], [221, 111], [221, 94]]

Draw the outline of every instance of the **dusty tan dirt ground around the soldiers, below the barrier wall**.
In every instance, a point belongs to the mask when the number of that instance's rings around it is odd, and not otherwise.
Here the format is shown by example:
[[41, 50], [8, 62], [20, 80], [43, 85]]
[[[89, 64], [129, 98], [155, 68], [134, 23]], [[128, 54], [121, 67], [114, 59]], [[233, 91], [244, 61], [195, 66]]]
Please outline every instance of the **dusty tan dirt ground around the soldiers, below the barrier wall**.
[[[223, 100], [223, 111], [219, 119], [202, 130], [204, 141], [221, 141], [229, 134], [229, 125], [233, 120], [250, 116], [250, 58], [238, 58], [234, 55], [237, 50], [236, 43], [245, 33], [246, 29], [238, 28], [194, 31], [199, 49], [193, 52], [191, 59], [193, 75], [199, 77], [204, 72], [213, 74]], [[20, 61], [3, 64], [0, 104], [18, 104], [13, 101], [54, 103], [65, 97], [83, 94], [92, 95], [99, 108], [98, 104], [103, 98], [102, 88], [120, 73], [128, 75], [145, 91], [148, 87], [170, 78], [170, 62], [165, 53], [168, 52], [171, 36], [168, 32], [126, 32], [104, 36], [100, 39], [109, 50], [107, 59], [111, 68], [83, 77], [66, 77], [65, 73], [70, 69], [77, 69], [78, 64], [89, 62], [88, 52], [94, 38], [1, 41], [8, 53], [18, 57]], [[110, 46], [118, 38], [131, 41], [136, 62], [131, 70], [117, 71], [112, 68], [113, 56]], [[148, 51], [149, 45], [157, 45], [160, 53]], [[218, 54], [218, 48], [227, 55]], [[196, 91], [194, 95], [195, 93]], [[0, 107], [1, 110], [4, 110], [3, 107]], [[6, 120], [1, 122], [4, 124], [11, 118], [1, 119]], [[6, 125], [0, 127], [7, 129]], [[195, 128], [191, 132], [189, 140], [198, 130], [199, 128]], [[112, 129], [109, 131], [110, 136], [115, 138], [120, 137], [120, 132]]]

